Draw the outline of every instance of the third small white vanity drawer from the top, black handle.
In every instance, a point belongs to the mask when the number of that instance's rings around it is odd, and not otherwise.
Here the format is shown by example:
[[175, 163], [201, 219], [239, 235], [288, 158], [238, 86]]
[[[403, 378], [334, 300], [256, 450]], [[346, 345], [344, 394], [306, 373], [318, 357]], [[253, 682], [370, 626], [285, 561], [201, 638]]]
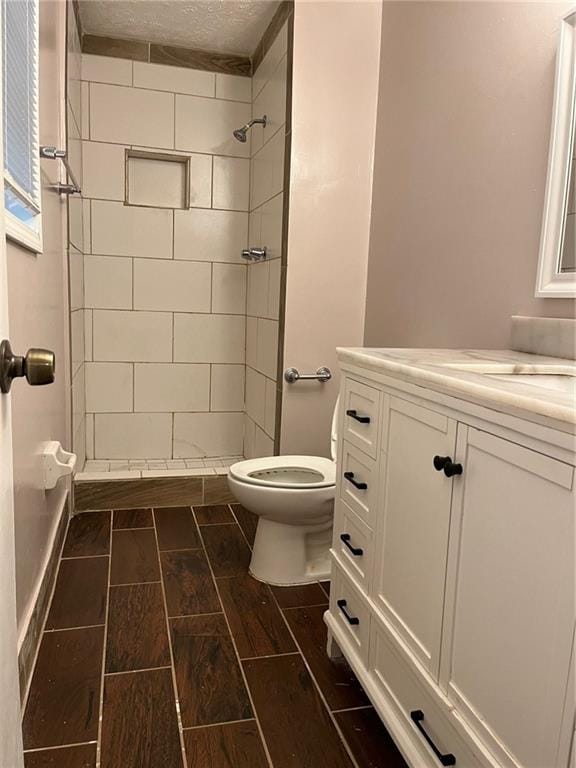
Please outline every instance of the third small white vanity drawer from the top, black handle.
[[372, 538], [373, 534], [370, 528], [342, 499], [339, 499], [335, 515], [332, 551], [366, 594], [368, 594], [372, 573]]

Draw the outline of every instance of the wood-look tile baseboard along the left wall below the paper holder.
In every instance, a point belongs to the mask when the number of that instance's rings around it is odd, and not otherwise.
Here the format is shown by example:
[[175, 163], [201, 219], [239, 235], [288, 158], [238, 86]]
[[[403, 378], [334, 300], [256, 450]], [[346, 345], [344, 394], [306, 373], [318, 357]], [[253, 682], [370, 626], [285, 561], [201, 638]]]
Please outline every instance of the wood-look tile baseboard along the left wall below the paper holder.
[[64, 536], [66, 534], [66, 528], [68, 527], [69, 518], [70, 494], [67, 493], [64, 504], [62, 505], [60, 518], [56, 524], [56, 530], [46, 560], [44, 573], [40, 579], [34, 607], [30, 612], [26, 629], [18, 644], [18, 674], [20, 678], [20, 701], [22, 704], [25, 703], [28, 694], [30, 677], [36, 662], [38, 645], [42, 636], [44, 622], [46, 621], [46, 614], [50, 605], [52, 590], [54, 589], [58, 561], [64, 544]]

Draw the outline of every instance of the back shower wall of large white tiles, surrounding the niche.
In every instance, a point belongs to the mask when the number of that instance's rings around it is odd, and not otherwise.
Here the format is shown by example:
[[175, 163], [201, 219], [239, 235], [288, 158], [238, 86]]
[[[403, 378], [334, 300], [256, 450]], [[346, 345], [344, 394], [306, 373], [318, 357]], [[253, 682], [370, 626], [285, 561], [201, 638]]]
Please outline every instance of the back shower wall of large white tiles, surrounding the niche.
[[[88, 54], [82, 79], [87, 455], [239, 455], [251, 80]], [[128, 148], [190, 158], [189, 207], [153, 157], [126, 205]]]

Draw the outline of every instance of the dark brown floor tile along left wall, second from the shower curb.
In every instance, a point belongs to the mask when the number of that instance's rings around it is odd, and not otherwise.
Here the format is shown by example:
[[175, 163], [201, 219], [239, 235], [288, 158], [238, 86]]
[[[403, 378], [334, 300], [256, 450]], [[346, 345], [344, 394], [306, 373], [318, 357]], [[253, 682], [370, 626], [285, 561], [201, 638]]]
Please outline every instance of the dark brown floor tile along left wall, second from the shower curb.
[[82, 557], [60, 562], [46, 629], [104, 624], [109, 560]]

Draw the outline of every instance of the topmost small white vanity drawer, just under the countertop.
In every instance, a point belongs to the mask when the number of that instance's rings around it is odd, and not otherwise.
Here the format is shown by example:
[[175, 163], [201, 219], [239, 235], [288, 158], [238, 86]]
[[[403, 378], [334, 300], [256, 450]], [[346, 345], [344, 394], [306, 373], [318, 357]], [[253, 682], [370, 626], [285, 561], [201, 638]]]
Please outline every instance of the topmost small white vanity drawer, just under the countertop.
[[344, 439], [373, 459], [378, 455], [382, 393], [347, 378], [344, 386]]

